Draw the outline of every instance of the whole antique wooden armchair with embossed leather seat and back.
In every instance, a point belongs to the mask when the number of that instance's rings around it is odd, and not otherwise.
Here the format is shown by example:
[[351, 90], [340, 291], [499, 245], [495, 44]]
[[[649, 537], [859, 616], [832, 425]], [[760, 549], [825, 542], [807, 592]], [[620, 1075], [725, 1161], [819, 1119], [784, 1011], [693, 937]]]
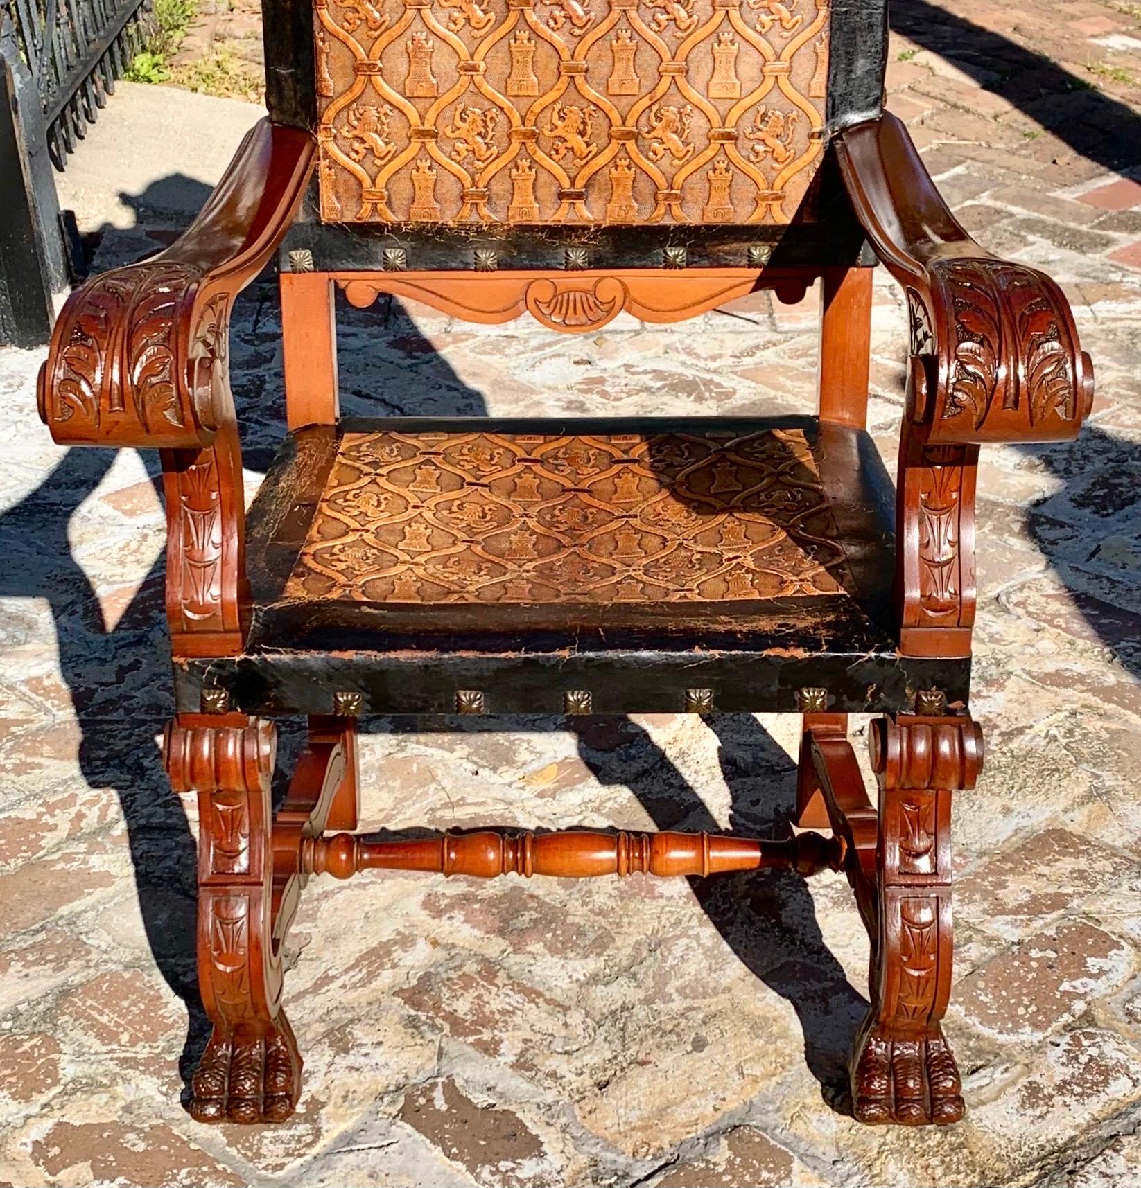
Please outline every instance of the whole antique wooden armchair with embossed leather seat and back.
[[[978, 449], [1073, 436], [1092, 371], [1058, 286], [973, 242], [883, 112], [885, 0], [276, 0], [265, 40], [269, 120], [174, 246], [73, 295], [39, 391], [56, 441], [162, 454], [194, 1116], [297, 1102], [280, 953], [314, 874], [831, 867], [871, 937], [855, 1116], [957, 1120]], [[247, 511], [227, 323], [275, 252], [289, 432]], [[894, 492], [864, 431], [877, 261], [910, 314]], [[338, 290], [597, 331], [817, 280], [818, 417], [339, 418]], [[795, 824], [822, 832], [352, 832], [363, 714], [660, 710], [801, 714]], [[877, 805], [850, 713], [877, 715]], [[285, 715], [309, 742], [273, 813]]]

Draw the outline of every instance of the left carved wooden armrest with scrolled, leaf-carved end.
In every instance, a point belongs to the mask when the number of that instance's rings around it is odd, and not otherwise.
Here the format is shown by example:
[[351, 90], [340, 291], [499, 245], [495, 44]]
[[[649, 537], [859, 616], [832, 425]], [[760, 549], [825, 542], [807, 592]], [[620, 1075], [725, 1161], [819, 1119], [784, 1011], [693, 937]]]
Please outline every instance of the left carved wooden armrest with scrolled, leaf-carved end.
[[203, 447], [233, 419], [231, 307], [289, 228], [314, 146], [261, 120], [171, 247], [71, 295], [39, 374], [39, 412], [57, 442]]

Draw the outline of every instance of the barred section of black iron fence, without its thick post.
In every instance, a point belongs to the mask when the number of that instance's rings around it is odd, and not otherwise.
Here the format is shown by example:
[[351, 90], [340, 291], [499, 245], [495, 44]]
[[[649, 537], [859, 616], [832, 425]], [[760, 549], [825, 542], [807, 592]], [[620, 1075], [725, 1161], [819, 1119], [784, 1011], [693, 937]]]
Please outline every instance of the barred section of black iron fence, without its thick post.
[[34, 81], [43, 129], [63, 169], [153, 27], [153, 0], [0, 0]]

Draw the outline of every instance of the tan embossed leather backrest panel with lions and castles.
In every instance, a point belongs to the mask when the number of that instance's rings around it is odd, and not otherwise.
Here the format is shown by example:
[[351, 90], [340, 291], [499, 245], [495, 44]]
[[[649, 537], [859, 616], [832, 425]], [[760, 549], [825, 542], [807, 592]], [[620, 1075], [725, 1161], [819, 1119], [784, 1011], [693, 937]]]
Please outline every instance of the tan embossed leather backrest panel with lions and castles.
[[827, 0], [315, 0], [321, 216], [787, 223]]

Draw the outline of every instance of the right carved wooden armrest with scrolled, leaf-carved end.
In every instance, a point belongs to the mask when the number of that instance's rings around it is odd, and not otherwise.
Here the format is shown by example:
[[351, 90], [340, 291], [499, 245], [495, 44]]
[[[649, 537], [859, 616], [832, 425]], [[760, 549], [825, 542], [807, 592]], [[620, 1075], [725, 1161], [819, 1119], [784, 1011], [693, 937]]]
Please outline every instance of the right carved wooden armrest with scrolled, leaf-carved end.
[[928, 446], [1073, 437], [1093, 368], [1049, 277], [997, 259], [958, 225], [894, 115], [845, 128], [856, 215], [907, 292], [907, 413]]

